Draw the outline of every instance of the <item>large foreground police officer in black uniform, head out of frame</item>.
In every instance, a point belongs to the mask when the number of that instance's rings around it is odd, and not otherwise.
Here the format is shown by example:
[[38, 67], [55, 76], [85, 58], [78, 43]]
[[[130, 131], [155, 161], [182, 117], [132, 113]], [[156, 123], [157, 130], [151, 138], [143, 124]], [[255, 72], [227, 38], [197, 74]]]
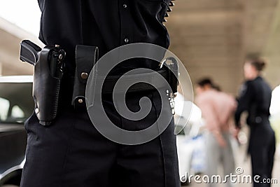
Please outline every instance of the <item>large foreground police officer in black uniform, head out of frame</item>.
[[[168, 48], [169, 36], [162, 22], [169, 0], [38, 0], [38, 5], [42, 12], [39, 39], [66, 51], [66, 67], [55, 120], [43, 126], [34, 113], [25, 123], [28, 141], [21, 186], [179, 186], [173, 120], [159, 137], [129, 146], [103, 137], [86, 109], [71, 104], [76, 45], [97, 46], [99, 56], [128, 43]], [[138, 67], [156, 69], [158, 64], [130, 60], [112, 74]], [[152, 108], [146, 118], [137, 121], [120, 116], [111, 95], [102, 97], [102, 102], [114, 124], [125, 130], [143, 130], [157, 120], [161, 99], [155, 90], [127, 94], [127, 107], [139, 111], [142, 97], [151, 100]], [[172, 116], [171, 109], [162, 112]]]

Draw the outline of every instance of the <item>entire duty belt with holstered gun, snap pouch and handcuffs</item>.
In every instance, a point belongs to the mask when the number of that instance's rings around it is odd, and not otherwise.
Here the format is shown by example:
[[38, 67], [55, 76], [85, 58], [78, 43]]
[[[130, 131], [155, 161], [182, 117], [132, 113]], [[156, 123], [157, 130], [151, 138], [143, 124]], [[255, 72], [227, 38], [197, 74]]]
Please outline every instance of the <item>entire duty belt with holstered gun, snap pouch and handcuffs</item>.
[[[21, 43], [20, 60], [34, 65], [33, 98], [36, 107], [35, 113], [41, 125], [50, 125], [57, 116], [59, 95], [62, 94], [60, 83], [64, 74], [65, 56], [66, 53], [59, 46], [47, 45], [41, 49], [31, 41], [22, 41]], [[170, 64], [166, 63], [167, 59], [171, 60]], [[143, 74], [125, 74], [124, 76], [106, 76], [104, 82], [102, 77], [97, 76], [96, 83], [102, 81], [100, 82], [103, 85], [102, 93], [105, 94], [112, 93], [118, 81], [120, 81], [120, 88], [118, 87], [117, 89], [119, 92], [127, 92], [127, 88], [125, 86], [122, 88], [122, 85], [127, 85], [130, 82], [135, 84], [130, 87], [129, 92], [171, 88], [169, 89], [169, 101], [172, 104], [172, 108], [174, 108], [173, 93], [177, 92], [178, 64], [173, 57], [167, 59], [162, 64], [167, 64], [172, 71], [161, 64], [158, 71], [148, 71], [148, 73], [144, 72]], [[75, 107], [85, 106], [87, 79], [97, 60], [97, 47], [76, 46], [76, 73], [73, 81], [71, 102]], [[167, 81], [158, 78], [158, 74]], [[168, 87], [168, 84], [170, 87]], [[156, 85], [156, 88], [153, 88], [152, 85]]]

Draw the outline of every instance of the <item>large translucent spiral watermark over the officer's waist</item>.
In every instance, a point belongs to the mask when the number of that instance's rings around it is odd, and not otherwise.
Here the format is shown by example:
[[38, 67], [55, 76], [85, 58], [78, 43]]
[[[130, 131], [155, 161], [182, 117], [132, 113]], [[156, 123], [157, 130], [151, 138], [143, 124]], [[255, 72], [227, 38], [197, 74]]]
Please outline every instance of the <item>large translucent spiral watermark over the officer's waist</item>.
[[[168, 127], [172, 121], [172, 115], [167, 115], [163, 110], [170, 109], [170, 102], [167, 97], [167, 90], [172, 90], [167, 83], [165, 77], [159, 74], [158, 71], [151, 69], [133, 69], [127, 71], [122, 77], [118, 79], [113, 87], [113, 104], [116, 110], [123, 118], [127, 120], [141, 120], [145, 118], [151, 111], [152, 102], [148, 97], [143, 97], [139, 100], [140, 110], [137, 112], [130, 111], [126, 104], [126, 93], [132, 85], [137, 83], [146, 83], [152, 85], [160, 93], [161, 99], [161, 111], [158, 119], [150, 127], [139, 130], [129, 131], [118, 127], [113, 124], [109, 117], [106, 115], [106, 111], [102, 104], [102, 88], [106, 86], [105, 79], [109, 76], [111, 70], [121, 62], [125, 60], [131, 60], [134, 58], [142, 58], [157, 61], [162, 64], [162, 61], [167, 59], [175, 59], [178, 63], [180, 78], [177, 76], [173, 69], [170, 69], [177, 78], [179, 78], [179, 85], [181, 85], [182, 93], [184, 97], [193, 102], [193, 86], [190, 81], [188, 71], [183, 66], [181, 60], [169, 50], [160, 46], [153, 45], [151, 43], [132, 43], [125, 46], [120, 46], [111, 50], [109, 53], [101, 57], [90, 72], [90, 76], [87, 80], [87, 86], [85, 90], [87, 112], [90, 116], [94, 127], [106, 138], [111, 141], [115, 141], [119, 144], [137, 145], [144, 144], [152, 139], [158, 137]], [[145, 72], [146, 77], [141, 80], [141, 75]], [[127, 81], [127, 77], [129, 81]], [[143, 77], [143, 76], [142, 76]], [[165, 90], [162, 90], [162, 83], [167, 85]], [[137, 92], [135, 93], [137, 94]], [[170, 99], [170, 98], [169, 98]], [[186, 104], [183, 107], [182, 113], [185, 114], [185, 118], [180, 118], [181, 128], [188, 122], [188, 118], [191, 113], [191, 106]], [[178, 131], [179, 132], [179, 131]]]

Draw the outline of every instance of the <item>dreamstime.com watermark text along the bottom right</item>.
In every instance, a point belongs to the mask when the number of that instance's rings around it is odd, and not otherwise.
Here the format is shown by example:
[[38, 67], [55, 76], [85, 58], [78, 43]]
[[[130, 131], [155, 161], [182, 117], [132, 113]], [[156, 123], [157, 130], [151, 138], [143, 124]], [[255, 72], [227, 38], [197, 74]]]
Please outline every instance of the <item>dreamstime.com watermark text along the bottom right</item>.
[[221, 175], [188, 175], [186, 174], [180, 176], [182, 183], [278, 183], [278, 179], [267, 179], [260, 175], [248, 175], [244, 174], [244, 169], [237, 167], [235, 174], [228, 174], [225, 176]]

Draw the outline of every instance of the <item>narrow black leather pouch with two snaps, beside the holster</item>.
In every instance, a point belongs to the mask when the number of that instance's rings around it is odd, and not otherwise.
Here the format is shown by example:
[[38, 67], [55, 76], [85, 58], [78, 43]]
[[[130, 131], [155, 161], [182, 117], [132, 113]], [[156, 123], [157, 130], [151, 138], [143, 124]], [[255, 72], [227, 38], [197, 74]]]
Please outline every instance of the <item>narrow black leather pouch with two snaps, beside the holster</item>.
[[98, 60], [98, 48], [95, 46], [76, 46], [76, 72], [73, 86], [72, 105], [85, 107], [85, 86], [92, 67]]

